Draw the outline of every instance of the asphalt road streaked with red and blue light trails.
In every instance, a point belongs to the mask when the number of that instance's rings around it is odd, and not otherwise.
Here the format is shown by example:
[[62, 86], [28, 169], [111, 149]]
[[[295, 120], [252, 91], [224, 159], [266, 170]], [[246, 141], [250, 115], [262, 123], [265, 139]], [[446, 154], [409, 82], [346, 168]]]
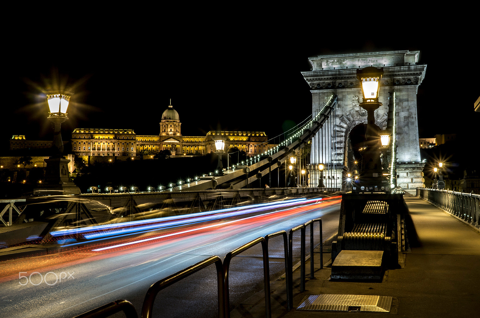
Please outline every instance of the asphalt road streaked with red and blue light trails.
[[[229, 251], [255, 238], [279, 230], [288, 231], [319, 217], [323, 220], [324, 240], [331, 237], [338, 230], [340, 210], [340, 201], [332, 201], [288, 209], [271, 216], [220, 220], [215, 227], [121, 249], [93, 251], [83, 248], [1, 262], [0, 316], [74, 317], [115, 299], [131, 301], [140, 314], [151, 284], [209, 256], [218, 255], [223, 260]], [[318, 233], [318, 223], [314, 232]], [[307, 238], [308, 233], [309, 230]], [[314, 239], [318, 244], [318, 234]], [[308, 246], [307, 243], [307, 249]], [[300, 231], [297, 231], [294, 256], [299, 255]], [[285, 272], [281, 238], [270, 241], [269, 257], [271, 279], [276, 279]], [[260, 247], [247, 250], [232, 260], [229, 283], [231, 308], [263, 289]], [[155, 317], [216, 317], [215, 266], [159, 293], [154, 314]], [[124, 316], [119, 313], [118, 317]]]

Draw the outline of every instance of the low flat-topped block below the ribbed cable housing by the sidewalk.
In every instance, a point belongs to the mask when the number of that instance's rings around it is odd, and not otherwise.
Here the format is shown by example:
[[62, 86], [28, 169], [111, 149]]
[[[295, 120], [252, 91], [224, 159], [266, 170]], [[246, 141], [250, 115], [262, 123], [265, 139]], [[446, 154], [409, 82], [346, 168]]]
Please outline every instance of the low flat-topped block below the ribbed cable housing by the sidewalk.
[[332, 264], [331, 279], [381, 281], [383, 257], [383, 250], [342, 250]]

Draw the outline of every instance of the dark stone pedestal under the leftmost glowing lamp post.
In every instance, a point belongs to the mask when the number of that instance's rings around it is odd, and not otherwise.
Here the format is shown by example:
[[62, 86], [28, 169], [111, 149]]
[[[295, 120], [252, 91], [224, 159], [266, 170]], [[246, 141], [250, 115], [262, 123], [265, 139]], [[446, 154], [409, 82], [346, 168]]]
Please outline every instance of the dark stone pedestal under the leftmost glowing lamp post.
[[70, 181], [68, 164], [69, 159], [49, 158], [45, 159], [45, 182], [34, 189], [36, 195], [62, 195], [80, 194], [80, 188]]

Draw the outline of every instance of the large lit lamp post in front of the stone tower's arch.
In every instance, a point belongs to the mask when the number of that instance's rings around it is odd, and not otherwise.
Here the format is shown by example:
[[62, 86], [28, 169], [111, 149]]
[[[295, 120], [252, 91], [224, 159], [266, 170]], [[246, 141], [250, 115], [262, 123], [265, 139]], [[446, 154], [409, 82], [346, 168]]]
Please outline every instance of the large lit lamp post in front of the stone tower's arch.
[[[375, 128], [375, 110], [382, 106], [378, 101], [380, 79], [383, 68], [367, 67], [357, 69], [357, 78], [361, 82], [363, 101], [360, 106], [367, 111], [367, 129], [365, 133], [367, 150], [362, 154], [360, 177], [355, 180], [353, 192], [388, 192], [390, 187], [382, 176], [379, 136]], [[384, 140], [386, 138], [384, 137]]]

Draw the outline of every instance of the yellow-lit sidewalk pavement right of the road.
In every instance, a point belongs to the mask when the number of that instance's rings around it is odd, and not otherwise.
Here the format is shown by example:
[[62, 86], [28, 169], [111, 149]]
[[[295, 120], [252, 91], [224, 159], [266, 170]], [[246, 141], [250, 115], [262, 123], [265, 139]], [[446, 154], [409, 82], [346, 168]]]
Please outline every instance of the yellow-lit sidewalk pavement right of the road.
[[[387, 269], [381, 283], [332, 282], [331, 242], [324, 243], [324, 268], [314, 254], [314, 279], [300, 293], [300, 269], [294, 270], [294, 299], [287, 311], [285, 279], [271, 283], [272, 317], [479, 317], [480, 231], [414, 196], [405, 196], [409, 249], [399, 268]], [[330, 261], [328, 261], [330, 260]], [[310, 277], [310, 259], [306, 262]], [[390, 313], [297, 310], [310, 295], [379, 295], [393, 297]], [[232, 318], [265, 317], [264, 291], [231, 311]]]

